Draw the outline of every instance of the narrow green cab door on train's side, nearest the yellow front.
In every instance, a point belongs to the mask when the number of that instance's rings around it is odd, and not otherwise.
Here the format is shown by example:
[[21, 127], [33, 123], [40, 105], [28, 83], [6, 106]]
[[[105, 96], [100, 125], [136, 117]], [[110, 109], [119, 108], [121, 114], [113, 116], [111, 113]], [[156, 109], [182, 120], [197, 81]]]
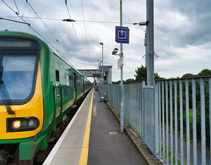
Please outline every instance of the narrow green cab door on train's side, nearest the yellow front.
[[55, 86], [53, 87], [53, 93], [54, 93], [54, 119], [52, 122], [52, 127], [55, 124], [57, 113], [59, 113], [61, 110], [61, 98], [62, 98], [62, 88], [60, 87], [60, 79], [59, 79], [59, 63], [55, 61]]

